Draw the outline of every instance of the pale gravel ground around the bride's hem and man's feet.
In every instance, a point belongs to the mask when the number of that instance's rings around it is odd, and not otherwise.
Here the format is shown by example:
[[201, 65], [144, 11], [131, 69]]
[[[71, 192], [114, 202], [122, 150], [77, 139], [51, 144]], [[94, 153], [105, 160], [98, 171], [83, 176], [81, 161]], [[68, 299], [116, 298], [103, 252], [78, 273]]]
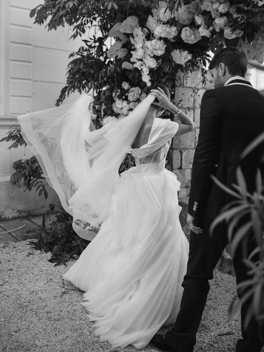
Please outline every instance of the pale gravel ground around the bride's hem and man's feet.
[[[81, 352], [111, 350], [93, 335], [93, 323], [80, 304], [83, 292], [62, 275], [68, 269], [49, 263], [50, 253], [36, 251], [28, 240], [0, 244], [0, 351]], [[67, 263], [67, 267], [72, 265]], [[227, 322], [235, 278], [215, 271], [194, 351], [235, 351], [240, 316]], [[161, 332], [166, 331], [164, 329]], [[232, 331], [233, 335], [218, 336]], [[119, 351], [119, 349], [117, 349]], [[132, 346], [123, 349], [137, 351]], [[157, 350], [147, 345], [142, 352]]]

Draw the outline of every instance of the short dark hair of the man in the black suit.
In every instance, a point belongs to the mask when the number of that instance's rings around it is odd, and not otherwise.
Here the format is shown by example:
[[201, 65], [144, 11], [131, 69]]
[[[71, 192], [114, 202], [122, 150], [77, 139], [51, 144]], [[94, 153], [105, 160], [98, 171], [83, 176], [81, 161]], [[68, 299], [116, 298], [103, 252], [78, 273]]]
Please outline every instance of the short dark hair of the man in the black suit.
[[244, 51], [234, 46], [228, 46], [227, 48], [219, 50], [210, 61], [208, 70], [218, 68], [221, 62], [225, 64], [230, 75], [245, 77], [248, 61]]

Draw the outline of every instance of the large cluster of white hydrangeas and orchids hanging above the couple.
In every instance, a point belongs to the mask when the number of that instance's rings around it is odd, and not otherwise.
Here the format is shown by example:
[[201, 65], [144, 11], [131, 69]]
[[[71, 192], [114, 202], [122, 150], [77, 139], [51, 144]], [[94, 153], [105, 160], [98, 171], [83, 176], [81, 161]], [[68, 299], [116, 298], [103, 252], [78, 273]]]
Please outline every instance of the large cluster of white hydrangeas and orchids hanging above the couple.
[[[157, 68], [160, 56], [167, 55], [174, 63], [188, 69], [197, 65], [195, 49], [199, 45], [195, 44], [200, 40], [209, 43], [208, 38], [216, 38], [219, 32], [226, 39], [244, 34], [240, 28], [245, 19], [239, 4], [231, 5], [228, 0], [192, 0], [186, 5], [182, 1], [180, 6], [178, 4], [179, 1], [171, 8], [168, 0], [159, 1], [142, 27], [136, 16], [129, 16], [110, 30], [111, 36], [119, 38], [116, 43], [128, 43], [130, 39], [132, 57], [130, 62], [122, 63], [122, 68], [138, 69], [147, 86], [151, 86], [150, 70]], [[235, 28], [234, 21], [237, 21]], [[109, 57], [126, 56], [127, 49], [116, 43], [109, 49]], [[122, 109], [126, 111], [126, 107]]]

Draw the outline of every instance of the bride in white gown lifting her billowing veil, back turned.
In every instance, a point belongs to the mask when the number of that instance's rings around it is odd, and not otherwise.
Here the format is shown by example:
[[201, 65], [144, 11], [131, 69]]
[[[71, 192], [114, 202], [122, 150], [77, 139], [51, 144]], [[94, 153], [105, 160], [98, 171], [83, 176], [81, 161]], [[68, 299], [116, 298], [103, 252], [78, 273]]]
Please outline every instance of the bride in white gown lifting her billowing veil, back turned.
[[[95, 335], [113, 347], [146, 346], [164, 325], [175, 323], [186, 274], [188, 240], [178, 218], [180, 182], [165, 169], [171, 138], [195, 130], [170, 102], [168, 88], [150, 94], [124, 118], [96, 130], [92, 98], [18, 117], [27, 144], [74, 230], [92, 240], [64, 274], [84, 291], [82, 305]], [[162, 119], [168, 109], [180, 121]], [[127, 153], [136, 167], [118, 175]], [[77, 219], [100, 226], [98, 234]]]

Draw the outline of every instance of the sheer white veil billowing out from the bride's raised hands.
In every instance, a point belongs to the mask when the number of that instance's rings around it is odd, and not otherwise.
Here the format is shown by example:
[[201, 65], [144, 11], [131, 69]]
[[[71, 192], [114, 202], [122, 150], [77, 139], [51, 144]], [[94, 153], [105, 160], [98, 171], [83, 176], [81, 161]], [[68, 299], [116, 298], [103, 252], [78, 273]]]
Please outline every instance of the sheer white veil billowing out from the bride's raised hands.
[[62, 206], [73, 215], [73, 228], [80, 237], [92, 240], [96, 233], [77, 226], [77, 219], [92, 226], [107, 220], [119, 166], [154, 99], [148, 95], [126, 117], [92, 132], [89, 106], [93, 98], [86, 94], [73, 104], [18, 117], [23, 138]]

